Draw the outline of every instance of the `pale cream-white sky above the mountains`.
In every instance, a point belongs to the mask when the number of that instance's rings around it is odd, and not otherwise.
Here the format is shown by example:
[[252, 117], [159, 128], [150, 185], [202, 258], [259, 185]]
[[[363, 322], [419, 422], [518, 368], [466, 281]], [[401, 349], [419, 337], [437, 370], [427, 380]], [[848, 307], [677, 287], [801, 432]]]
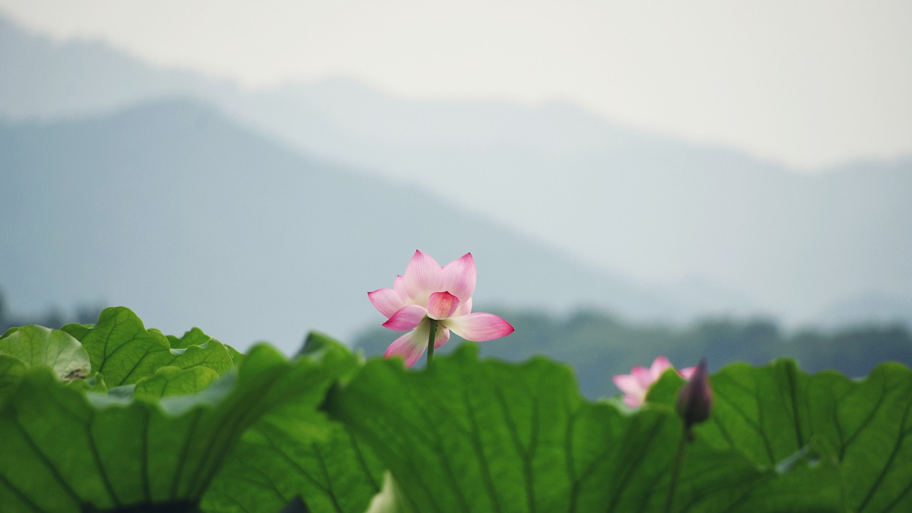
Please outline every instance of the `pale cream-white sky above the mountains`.
[[568, 99], [809, 171], [912, 153], [907, 0], [0, 0], [0, 14], [251, 88], [347, 76], [411, 98]]

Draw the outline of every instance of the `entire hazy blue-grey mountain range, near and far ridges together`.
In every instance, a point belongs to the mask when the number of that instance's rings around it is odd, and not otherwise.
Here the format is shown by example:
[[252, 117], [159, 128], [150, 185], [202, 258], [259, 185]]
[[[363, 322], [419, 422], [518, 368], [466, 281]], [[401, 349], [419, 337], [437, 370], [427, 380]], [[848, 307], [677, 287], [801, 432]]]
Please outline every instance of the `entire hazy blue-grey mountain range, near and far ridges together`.
[[247, 91], [2, 17], [0, 69], [0, 287], [26, 308], [294, 346], [378, 316], [364, 292], [420, 247], [472, 250], [479, 306], [912, 317], [912, 159], [810, 176], [559, 102]]

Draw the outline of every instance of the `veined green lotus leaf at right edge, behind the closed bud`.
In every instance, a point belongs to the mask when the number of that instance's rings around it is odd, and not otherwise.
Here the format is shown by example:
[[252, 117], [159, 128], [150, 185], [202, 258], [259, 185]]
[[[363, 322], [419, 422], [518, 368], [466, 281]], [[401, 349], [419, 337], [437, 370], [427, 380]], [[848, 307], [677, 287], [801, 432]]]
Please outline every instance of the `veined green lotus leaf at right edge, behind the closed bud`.
[[[648, 400], [670, 406], [679, 377], [668, 372]], [[809, 444], [839, 461], [852, 511], [912, 510], [912, 371], [884, 363], [863, 380], [807, 374], [793, 361], [735, 363], [710, 379], [713, 411], [695, 432], [776, 466]]]

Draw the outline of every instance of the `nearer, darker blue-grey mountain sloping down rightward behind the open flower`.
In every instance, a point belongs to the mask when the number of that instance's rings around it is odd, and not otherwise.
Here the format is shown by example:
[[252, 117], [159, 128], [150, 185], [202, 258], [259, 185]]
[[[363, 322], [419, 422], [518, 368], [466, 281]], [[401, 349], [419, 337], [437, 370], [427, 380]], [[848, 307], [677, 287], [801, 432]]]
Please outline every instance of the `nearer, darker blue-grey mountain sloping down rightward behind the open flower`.
[[306, 330], [347, 336], [382, 321], [367, 291], [390, 287], [420, 248], [441, 264], [473, 252], [477, 309], [684, 313], [426, 191], [306, 159], [195, 100], [7, 122], [0, 169], [0, 283], [19, 310], [103, 299], [164, 330], [198, 325], [226, 343], [293, 351]]

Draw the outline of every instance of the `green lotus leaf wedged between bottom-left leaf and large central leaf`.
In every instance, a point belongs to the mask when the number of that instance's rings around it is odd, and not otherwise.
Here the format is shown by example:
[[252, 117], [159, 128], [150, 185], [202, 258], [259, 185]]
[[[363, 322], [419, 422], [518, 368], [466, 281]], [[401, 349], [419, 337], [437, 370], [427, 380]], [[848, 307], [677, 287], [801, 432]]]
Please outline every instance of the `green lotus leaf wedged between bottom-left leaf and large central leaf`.
[[[357, 372], [360, 361], [345, 346], [311, 333], [299, 354], [322, 361], [338, 377]], [[325, 390], [308, 394], [321, 403]], [[312, 409], [287, 404], [244, 433], [223, 471], [203, 497], [212, 513], [279, 511], [301, 497], [310, 511], [362, 513], [380, 489], [383, 466], [371, 448], [342, 424], [326, 430]]]

